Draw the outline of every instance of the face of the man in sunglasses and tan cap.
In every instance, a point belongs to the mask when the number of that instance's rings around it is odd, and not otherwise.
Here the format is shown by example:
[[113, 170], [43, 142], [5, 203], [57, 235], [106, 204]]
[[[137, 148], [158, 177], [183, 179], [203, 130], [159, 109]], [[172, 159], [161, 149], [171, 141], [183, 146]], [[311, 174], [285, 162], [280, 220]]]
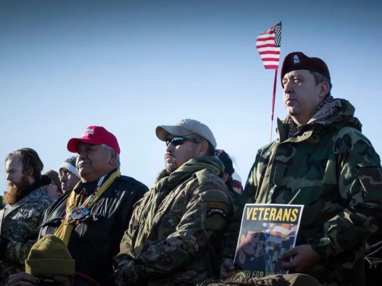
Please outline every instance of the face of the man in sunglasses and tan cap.
[[[184, 136], [189, 138], [188, 136]], [[174, 138], [174, 135], [169, 135], [168, 140]], [[174, 172], [187, 161], [199, 157], [198, 144], [189, 141], [183, 141], [182, 144], [175, 146], [169, 143], [166, 147], [165, 162], [166, 169], [169, 172]]]

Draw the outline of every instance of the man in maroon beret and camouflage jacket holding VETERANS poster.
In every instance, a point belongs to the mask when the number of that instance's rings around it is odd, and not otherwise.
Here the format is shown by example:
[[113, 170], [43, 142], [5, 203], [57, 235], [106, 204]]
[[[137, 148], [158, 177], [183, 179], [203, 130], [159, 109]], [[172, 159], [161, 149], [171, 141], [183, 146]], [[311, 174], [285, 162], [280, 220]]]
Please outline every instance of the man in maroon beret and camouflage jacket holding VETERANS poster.
[[364, 286], [365, 243], [382, 219], [380, 156], [354, 106], [331, 95], [323, 60], [288, 54], [281, 83], [287, 116], [278, 119], [278, 138], [258, 150], [234, 203], [221, 276], [232, 274], [246, 203], [295, 204], [304, 210], [296, 247], [281, 256], [283, 268], [324, 286]]

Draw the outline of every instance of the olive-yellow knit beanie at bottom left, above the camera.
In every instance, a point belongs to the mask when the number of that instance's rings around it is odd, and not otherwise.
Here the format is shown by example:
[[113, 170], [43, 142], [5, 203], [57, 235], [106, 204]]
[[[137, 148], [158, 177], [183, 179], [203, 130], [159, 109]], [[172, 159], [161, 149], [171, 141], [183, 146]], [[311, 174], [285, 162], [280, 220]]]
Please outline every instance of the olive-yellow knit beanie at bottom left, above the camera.
[[38, 240], [30, 249], [25, 260], [25, 272], [39, 277], [42, 275], [73, 276], [75, 261], [65, 243], [49, 234]]

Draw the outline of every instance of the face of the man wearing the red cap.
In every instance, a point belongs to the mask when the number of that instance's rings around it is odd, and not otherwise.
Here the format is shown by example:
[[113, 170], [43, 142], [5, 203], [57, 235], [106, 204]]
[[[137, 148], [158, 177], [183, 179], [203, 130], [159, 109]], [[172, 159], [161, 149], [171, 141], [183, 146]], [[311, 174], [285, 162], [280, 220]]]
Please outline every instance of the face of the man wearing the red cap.
[[85, 182], [95, 181], [110, 171], [112, 150], [102, 145], [79, 143], [77, 166], [78, 173]]

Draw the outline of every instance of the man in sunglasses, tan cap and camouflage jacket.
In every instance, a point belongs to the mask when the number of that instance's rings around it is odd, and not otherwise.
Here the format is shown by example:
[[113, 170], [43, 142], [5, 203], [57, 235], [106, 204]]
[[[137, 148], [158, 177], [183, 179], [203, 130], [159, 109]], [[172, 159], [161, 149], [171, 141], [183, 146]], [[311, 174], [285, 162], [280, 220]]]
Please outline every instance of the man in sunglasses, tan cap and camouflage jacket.
[[207, 126], [159, 126], [166, 170], [140, 200], [115, 258], [118, 286], [195, 286], [218, 276], [222, 232], [233, 197]]

